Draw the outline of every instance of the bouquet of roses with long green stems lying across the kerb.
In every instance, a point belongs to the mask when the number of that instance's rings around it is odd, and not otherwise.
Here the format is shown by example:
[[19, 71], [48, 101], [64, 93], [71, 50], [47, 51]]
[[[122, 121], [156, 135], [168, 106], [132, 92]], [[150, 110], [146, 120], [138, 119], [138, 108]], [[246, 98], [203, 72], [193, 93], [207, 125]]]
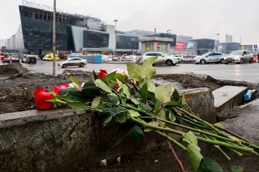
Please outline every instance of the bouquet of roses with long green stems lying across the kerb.
[[[171, 143], [185, 150], [196, 171], [222, 171], [216, 162], [202, 156], [198, 141], [214, 145], [227, 159], [230, 157], [221, 146], [239, 156], [242, 155], [239, 151], [258, 156], [255, 151], [259, 150], [258, 146], [226, 130], [220, 123], [208, 123], [182, 109], [186, 104], [184, 93], [179, 96], [170, 84], [156, 88], [151, 80], [156, 73], [152, 66], [156, 58], [146, 59], [142, 66], [127, 64], [127, 71], [117, 69], [109, 74], [106, 70], [98, 74], [93, 71], [93, 79], [85, 83], [71, 76], [70, 84], [54, 86], [52, 91], [38, 89], [35, 91], [36, 107], [47, 109], [69, 106], [77, 111], [98, 112], [104, 116], [104, 126], [111, 120], [121, 124], [126, 120], [133, 121], [136, 125], [128, 132], [130, 136], [142, 141], [145, 140], [144, 132], [154, 131], [167, 140], [172, 152]], [[183, 125], [183, 122], [189, 126]], [[168, 124], [185, 128], [189, 132], [174, 130]], [[182, 136], [184, 143], [177, 142], [165, 132]], [[200, 133], [203, 137], [197, 137], [192, 132]], [[118, 145], [123, 139], [115, 141], [112, 146]], [[184, 171], [177, 155], [173, 155]]]

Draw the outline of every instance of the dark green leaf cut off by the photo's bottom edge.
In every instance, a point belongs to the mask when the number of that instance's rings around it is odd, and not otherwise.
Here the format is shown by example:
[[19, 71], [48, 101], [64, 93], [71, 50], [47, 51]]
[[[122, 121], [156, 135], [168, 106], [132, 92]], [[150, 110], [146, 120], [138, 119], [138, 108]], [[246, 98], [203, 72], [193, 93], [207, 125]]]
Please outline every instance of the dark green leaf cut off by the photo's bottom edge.
[[[232, 167], [231, 167], [232, 169]], [[215, 161], [209, 158], [203, 158], [198, 172], [223, 172], [222, 168]], [[234, 172], [234, 171], [232, 171]], [[235, 171], [238, 172], [238, 171]]]

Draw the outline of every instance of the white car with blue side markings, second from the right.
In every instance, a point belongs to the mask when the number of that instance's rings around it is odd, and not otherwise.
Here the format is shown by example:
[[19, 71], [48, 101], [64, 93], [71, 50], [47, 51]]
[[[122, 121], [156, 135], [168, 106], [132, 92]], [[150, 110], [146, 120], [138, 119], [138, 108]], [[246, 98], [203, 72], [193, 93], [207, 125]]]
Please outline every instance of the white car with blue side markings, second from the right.
[[222, 53], [206, 53], [201, 56], [196, 56], [193, 58], [192, 62], [195, 64], [205, 64], [205, 63], [221, 63], [224, 64], [224, 57], [226, 55]]

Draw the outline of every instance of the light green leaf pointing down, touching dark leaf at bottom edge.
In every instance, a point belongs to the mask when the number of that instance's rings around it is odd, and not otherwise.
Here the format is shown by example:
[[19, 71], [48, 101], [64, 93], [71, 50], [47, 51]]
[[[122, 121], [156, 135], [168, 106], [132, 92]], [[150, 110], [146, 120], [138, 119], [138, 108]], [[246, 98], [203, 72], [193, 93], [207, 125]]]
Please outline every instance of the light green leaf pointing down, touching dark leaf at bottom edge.
[[195, 171], [198, 170], [198, 168], [201, 164], [202, 158], [203, 158], [200, 151], [201, 151], [201, 149], [193, 143], [191, 143], [187, 146], [187, 156], [188, 156], [193, 168], [195, 168]]

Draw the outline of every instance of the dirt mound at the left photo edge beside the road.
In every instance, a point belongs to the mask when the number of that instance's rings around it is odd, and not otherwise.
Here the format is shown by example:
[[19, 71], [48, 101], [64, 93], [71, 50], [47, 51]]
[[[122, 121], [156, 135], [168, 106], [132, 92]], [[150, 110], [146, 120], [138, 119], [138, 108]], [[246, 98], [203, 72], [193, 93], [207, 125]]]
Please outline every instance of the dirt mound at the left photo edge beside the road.
[[20, 63], [12, 63], [0, 66], [0, 75], [12, 75], [16, 73], [26, 73], [29, 70]]

